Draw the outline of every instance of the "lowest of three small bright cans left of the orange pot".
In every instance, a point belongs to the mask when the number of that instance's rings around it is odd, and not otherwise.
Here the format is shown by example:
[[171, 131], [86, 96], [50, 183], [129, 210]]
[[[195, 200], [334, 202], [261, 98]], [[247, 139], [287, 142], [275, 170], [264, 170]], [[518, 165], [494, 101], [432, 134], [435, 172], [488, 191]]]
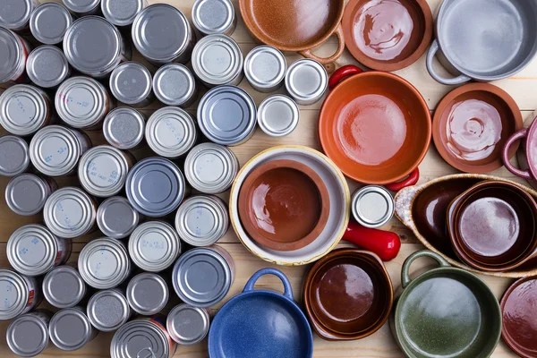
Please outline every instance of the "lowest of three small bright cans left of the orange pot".
[[293, 99], [284, 95], [265, 98], [258, 109], [258, 124], [272, 137], [283, 137], [294, 131], [300, 119], [300, 109]]

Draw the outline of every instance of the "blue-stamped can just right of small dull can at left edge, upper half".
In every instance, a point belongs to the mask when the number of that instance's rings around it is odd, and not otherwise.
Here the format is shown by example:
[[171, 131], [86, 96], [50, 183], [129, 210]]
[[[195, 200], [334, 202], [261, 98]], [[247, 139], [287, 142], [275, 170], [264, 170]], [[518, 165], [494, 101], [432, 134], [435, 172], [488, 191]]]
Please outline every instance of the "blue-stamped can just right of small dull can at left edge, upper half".
[[75, 173], [81, 156], [91, 148], [86, 134], [60, 125], [48, 125], [30, 141], [31, 164], [48, 176]]

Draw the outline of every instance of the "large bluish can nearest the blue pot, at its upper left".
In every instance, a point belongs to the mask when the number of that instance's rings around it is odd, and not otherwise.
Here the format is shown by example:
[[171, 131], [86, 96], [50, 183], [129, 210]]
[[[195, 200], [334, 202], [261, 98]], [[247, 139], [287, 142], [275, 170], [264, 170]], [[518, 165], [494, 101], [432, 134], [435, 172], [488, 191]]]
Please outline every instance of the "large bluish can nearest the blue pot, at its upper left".
[[226, 297], [232, 275], [226, 259], [217, 251], [196, 248], [177, 260], [172, 280], [175, 293], [183, 303], [206, 308]]

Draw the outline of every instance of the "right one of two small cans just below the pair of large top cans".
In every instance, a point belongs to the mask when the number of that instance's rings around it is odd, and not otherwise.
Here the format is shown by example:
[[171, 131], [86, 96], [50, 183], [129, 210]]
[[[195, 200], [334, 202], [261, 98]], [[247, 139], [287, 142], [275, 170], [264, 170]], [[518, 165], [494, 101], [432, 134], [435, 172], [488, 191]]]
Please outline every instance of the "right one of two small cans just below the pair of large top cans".
[[191, 107], [198, 98], [196, 80], [184, 64], [165, 64], [153, 78], [158, 100], [167, 106]]

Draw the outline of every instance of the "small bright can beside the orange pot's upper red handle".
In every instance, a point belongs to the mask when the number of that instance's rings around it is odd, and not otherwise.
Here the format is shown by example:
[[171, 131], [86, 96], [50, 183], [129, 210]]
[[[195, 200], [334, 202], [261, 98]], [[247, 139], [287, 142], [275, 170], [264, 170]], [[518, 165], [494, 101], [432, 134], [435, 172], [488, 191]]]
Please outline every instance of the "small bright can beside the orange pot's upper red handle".
[[308, 58], [295, 61], [286, 73], [286, 89], [299, 105], [312, 105], [328, 89], [327, 70], [322, 64]]

